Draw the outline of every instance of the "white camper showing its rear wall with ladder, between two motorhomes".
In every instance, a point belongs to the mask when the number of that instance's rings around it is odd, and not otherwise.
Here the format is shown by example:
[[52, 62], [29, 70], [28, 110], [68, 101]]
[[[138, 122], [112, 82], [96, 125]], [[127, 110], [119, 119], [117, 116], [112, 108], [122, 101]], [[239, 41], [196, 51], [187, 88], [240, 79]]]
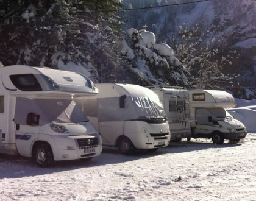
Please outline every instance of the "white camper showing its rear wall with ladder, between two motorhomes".
[[171, 140], [180, 141], [191, 138], [190, 111], [187, 90], [175, 86], [149, 86], [160, 98], [168, 117]]

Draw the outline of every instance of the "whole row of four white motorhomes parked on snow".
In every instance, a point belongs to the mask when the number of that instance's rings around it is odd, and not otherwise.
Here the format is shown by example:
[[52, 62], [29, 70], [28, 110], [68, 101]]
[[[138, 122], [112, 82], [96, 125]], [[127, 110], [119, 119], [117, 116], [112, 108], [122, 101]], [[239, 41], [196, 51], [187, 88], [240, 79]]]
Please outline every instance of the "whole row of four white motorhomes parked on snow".
[[13, 65], [0, 68], [0, 153], [54, 161], [90, 159], [102, 146], [123, 154], [155, 151], [182, 138], [238, 142], [244, 125], [215, 90], [100, 83], [76, 72]]

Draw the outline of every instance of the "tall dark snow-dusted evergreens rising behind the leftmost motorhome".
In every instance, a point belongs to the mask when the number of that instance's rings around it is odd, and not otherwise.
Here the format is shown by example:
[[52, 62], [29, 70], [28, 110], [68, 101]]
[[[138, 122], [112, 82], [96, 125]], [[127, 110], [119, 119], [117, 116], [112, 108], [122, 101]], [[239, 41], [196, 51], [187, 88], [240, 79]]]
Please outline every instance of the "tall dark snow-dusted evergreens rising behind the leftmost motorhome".
[[[63, 68], [74, 63], [84, 68], [82, 71], [94, 82], [116, 80], [109, 75], [115, 71], [116, 41], [123, 34], [122, 21], [116, 15], [121, 6], [119, 1], [6, 0], [4, 3], [0, 12], [0, 60], [5, 66]], [[108, 73], [104, 77], [105, 71]]]

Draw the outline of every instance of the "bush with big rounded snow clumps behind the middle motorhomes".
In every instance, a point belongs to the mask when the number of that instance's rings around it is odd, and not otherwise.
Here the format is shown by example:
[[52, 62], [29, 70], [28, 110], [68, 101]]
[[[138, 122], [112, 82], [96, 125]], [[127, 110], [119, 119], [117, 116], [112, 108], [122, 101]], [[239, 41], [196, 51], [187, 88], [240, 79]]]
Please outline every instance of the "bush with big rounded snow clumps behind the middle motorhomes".
[[140, 72], [148, 85], [190, 86], [190, 74], [174, 56], [168, 44], [157, 44], [154, 33], [129, 29], [121, 52], [133, 70]]

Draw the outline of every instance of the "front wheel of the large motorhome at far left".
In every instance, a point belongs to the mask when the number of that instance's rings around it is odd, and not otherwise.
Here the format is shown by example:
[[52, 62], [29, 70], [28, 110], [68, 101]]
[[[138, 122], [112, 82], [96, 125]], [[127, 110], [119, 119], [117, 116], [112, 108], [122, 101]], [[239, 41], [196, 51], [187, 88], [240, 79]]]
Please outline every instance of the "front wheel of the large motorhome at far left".
[[40, 143], [34, 149], [32, 157], [33, 161], [38, 167], [46, 168], [53, 166], [54, 157], [51, 146], [48, 143]]

